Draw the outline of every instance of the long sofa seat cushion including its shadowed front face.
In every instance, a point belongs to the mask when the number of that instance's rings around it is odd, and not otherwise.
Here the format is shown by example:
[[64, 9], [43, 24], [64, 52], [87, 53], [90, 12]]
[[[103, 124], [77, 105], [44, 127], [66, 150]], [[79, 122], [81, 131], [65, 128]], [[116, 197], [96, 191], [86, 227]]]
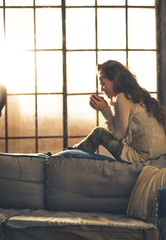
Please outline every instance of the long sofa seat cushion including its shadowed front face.
[[124, 215], [92, 212], [33, 210], [9, 218], [5, 230], [5, 239], [12, 240], [159, 240], [154, 224]]

